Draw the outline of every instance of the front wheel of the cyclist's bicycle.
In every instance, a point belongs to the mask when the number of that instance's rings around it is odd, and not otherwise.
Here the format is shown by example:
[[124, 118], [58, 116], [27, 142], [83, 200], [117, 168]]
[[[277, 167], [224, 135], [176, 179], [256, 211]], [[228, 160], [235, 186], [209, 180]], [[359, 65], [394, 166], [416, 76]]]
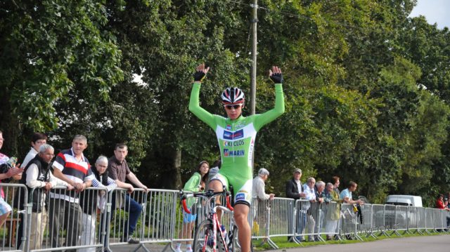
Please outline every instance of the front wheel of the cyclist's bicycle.
[[[195, 230], [193, 241], [193, 252], [212, 252], [214, 251], [214, 225], [211, 220], [203, 220]], [[225, 252], [224, 240], [221, 238], [219, 230], [216, 232], [216, 251]]]

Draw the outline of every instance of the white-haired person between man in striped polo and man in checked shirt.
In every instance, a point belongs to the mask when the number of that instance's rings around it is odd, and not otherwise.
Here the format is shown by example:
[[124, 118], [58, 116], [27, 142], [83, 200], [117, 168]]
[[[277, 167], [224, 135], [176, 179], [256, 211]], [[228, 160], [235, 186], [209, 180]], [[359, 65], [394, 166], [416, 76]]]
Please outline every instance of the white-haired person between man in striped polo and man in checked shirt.
[[[100, 156], [96, 160], [96, 165], [92, 168], [94, 178], [92, 179], [92, 186], [106, 188], [108, 192], [117, 187], [115, 181], [108, 177], [108, 158]], [[105, 191], [100, 193], [96, 190], [84, 191], [80, 196], [80, 203], [83, 208], [82, 223], [84, 225], [82, 232], [82, 245], [94, 244], [96, 237], [96, 219], [97, 209], [102, 211], [105, 206]], [[99, 194], [99, 195], [98, 195]], [[100, 226], [101, 227], [101, 226]], [[95, 252], [96, 248], [80, 248], [78, 252]]]

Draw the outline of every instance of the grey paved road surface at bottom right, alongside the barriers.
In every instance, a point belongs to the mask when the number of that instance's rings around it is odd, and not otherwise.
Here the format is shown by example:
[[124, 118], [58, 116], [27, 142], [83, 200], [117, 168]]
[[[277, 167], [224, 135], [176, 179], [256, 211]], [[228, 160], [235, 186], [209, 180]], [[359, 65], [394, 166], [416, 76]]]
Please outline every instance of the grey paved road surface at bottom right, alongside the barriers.
[[395, 252], [435, 252], [450, 251], [450, 235], [435, 235], [425, 237], [405, 237], [384, 239], [380, 241], [359, 242], [356, 244], [330, 244], [310, 246], [305, 248], [288, 248], [276, 252], [366, 252], [366, 251], [395, 251]]

